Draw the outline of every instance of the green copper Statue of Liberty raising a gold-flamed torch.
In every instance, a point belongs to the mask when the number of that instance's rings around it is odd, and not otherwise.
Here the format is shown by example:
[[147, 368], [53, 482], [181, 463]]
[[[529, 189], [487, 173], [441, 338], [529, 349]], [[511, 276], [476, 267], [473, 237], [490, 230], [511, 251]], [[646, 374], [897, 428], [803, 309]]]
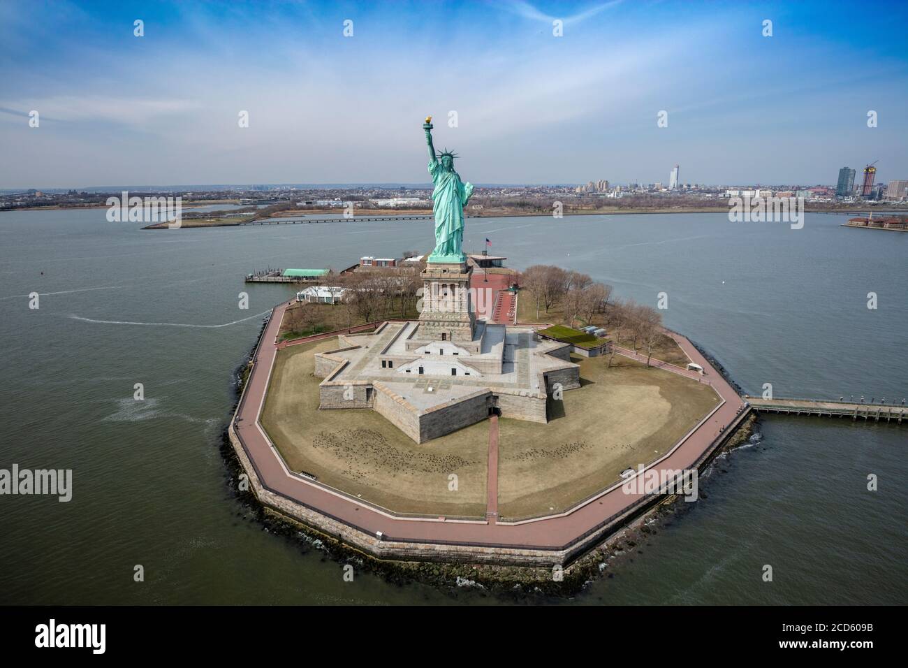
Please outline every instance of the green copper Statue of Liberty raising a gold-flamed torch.
[[422, 129], [429, 145], [429, 174], [432, 175], [432, 213], [435, 216], [435, 250], [429, 262], [466, 262], [463, 254], [463, 207], [473, 194], [473, 184], [464, 184], [454, 171], [457, 154], [447, 148], [435, 155], [432, 145], [432, 117], [426, 118]]

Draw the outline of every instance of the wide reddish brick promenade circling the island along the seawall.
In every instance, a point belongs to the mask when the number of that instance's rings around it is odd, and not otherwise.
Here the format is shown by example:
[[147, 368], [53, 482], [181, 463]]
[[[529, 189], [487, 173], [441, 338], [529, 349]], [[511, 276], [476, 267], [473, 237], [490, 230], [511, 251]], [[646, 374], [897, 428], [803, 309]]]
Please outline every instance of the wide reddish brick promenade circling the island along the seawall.
[[[491, 280], [491, 279], [489, 279]], [[603, 522], [623, 513], [642, 494], [625, 494], [621, 484], [588, 499], [574, 509], [526, 523], [504, 524], [477, 520], [475, 522], [445, 522], [439, 518], [402, 518], [366, 505], [353, 497], [331, 490], [287, 469], [277, 449], [258, 424], [271, 367], [277, 354], [275, 337], [288, 303], [275, 307], [271, 320], [262, 334], [262, 344], [256, 354], [256, 364], [246, 384], [236, 414], [236, 433], [243, 449], [252, 461], [259, 479], [266, 488], [291, 500], [330, 514], [334, 519], [358, 527], [361, 531], [382, 532], [390, 540], [422, 543], [448, 542], [472, 545], [525, 547], [540, 550], [561, 550], [577, 541], [577, 537], [597, 529]], [[691, 468], [713, 444], [720, 430], [735, 422], [741, 398], [720, 374], [713, 371], [706, 359], [683, 336], [673, 334], [685, 353], [711, 374], [711, 384], [722, 397], [722, 403], [703, 423], [682, 439], [680, 444], [653, 465], [656, 469]], [[579, 418], [579, 419], [582, 419]]]

